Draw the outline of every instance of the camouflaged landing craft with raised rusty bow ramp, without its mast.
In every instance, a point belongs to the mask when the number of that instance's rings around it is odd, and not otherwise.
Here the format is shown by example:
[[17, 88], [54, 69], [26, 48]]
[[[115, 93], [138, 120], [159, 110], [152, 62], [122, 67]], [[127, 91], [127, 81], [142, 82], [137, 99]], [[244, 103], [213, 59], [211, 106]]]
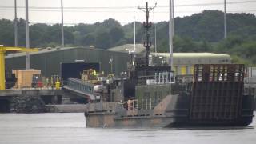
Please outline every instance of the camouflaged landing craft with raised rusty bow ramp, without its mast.
[[248, 126], [253, 96], [243, 94], [244, 66], [196, 65], [174, 77], [169, 66], [131, 66], [106, 78], [86, 105], [87, 127]]

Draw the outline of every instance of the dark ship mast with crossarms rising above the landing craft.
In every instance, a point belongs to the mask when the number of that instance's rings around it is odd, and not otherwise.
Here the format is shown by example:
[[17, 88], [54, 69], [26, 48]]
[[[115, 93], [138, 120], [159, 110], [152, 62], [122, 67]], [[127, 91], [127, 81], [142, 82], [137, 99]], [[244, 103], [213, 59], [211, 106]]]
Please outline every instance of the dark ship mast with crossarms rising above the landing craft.
[[143, 46], [146, 47], [146, 66], [149, 66], [149, 56], [150, 56], [150, 27], [152, 23], [149, 22], [150, 11], [153, 10], [157, 4], [155, 3], [154, 7], [149, 7], [148, 2], [146, 2], [146, 7], [138, 7], [139, 10], [142, 10], [146, 13], [146, 22], [143, 22], [143, 26], [146, 29], [146, 42], [144, 42]]

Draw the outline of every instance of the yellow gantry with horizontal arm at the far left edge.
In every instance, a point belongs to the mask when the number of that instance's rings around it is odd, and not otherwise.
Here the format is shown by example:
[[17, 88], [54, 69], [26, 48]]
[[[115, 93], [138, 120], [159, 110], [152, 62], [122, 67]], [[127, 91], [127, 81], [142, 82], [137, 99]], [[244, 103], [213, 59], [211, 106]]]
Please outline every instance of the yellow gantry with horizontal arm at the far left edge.
[[0, 90], [6, 90], [6, 75], [5, 75], [5, 54], [6, 51], [13, 52], [35, 52], [38, 49], [26, 49], [21, 47], [5, 47], [0, 45]]

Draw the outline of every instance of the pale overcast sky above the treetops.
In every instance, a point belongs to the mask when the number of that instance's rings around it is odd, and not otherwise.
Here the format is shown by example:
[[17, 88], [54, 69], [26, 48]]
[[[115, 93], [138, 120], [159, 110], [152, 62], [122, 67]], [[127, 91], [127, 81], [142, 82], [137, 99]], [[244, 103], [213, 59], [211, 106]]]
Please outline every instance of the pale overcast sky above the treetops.
[[[145, 6], [146, 0], [63, 0], [64, 23], [94, 23], [114, 18], [122, 25], [128, 22], [144, 21], [145, 14], [136, 7]], [[150, 14], [150, 21], [169, 19], [169, 0], [147, 0], [150, 6], [157, 7]], [[202, 10], [223, 10], [216, 3], [224, 0], [174, 0], [175, 17], [183, 17]], [[256, 13], [256, 0], [226, 0], [228, 12]], [[201, 4], [197, 5], [196, 4]], [[25, 18], [25, 0], [17, 0], [18, 18]], [[29, 0], [30, 22], [61, 22], [61, 0]], [[0, 18], [14, 19], [14, 0], [0, 0]]]

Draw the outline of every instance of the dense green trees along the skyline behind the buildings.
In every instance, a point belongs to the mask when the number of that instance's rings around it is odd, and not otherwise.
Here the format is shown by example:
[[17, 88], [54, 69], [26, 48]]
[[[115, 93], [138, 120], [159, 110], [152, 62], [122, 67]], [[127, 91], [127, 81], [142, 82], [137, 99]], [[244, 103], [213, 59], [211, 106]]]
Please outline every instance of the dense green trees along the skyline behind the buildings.
[[[216, 52], [231, 54], [234, 62], [256, 63], [256, 18], [254, 14], [227, 14], [228, 38], [223, 39], [223, 13], [205, 10], [184, 18], [175, 18], [174, 52]], [[168, 22], [158, 22], [158, 52], [169, 50]], [[152, 26], [154, 27], [154, 25]], [[136, 42], [145, 39], [141, 22], [136, 22]], [[114, 19], [94, 24], [65, 26], [66, 46], [95, 46], [108, 49], [134, 42], [134, 24], [121, 26]], [[154, 44], [154, 29], [150, 31]], [[54, 47], [61, 43], [61, 26], [42, 23], [30, 26], [31, 47]], [[0, 20], [0, 44], [14, 46], [14, 22]], [[18, 45], [25, 46], [25, 21], [18, 20]]]

